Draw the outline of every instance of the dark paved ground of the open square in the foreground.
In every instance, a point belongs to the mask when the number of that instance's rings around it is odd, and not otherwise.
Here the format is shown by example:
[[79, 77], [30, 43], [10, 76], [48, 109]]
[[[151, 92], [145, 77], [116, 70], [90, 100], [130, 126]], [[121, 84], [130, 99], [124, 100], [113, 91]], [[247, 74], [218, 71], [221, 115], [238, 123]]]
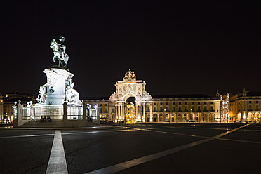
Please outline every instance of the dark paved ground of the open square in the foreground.
[[1, 130], [1, 173], [46, 173], [55, 133], [62, 136], [68, 173], [260, 173], [260, 124], [114, 126]]

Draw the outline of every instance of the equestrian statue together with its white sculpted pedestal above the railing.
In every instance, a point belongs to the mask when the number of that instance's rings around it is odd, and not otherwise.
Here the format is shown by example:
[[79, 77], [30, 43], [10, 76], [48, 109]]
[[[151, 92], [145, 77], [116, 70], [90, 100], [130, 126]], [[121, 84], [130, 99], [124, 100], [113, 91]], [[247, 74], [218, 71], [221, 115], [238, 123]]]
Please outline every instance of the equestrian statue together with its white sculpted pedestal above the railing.
[[56, 65], [44, 70], [47, 83], [40, 86], [36, 100], [39, 105], [62, 105], [67, 102], [67, 105], [81, 106], [79, 93], [74, 89], [74, 83], [72, 83], [74, 74], [67, 70], [69, 56], [65, 53], [65, 38], [61, 36], [59, 41], [59, 44], [55, 39], [51, 42], [50, 47], [54, 54], [53, 62], [56, 62]]

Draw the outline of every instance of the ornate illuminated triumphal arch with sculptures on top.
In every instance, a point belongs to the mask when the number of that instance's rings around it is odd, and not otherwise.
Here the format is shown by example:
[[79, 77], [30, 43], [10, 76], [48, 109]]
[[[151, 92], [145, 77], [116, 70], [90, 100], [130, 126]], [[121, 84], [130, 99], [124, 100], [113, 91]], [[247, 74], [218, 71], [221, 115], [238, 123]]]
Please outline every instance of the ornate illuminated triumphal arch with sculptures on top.
[[145, 81], [137, 80], [131, 69], [123, 81], [116, 81], [116, 90], [109, 98], [115, 106], [115, 122], [126, 121], [127, 100], [131, 97], [135, 98], [135, 122], [152, 122], [152, 95], [145, 91], [145, 86]]

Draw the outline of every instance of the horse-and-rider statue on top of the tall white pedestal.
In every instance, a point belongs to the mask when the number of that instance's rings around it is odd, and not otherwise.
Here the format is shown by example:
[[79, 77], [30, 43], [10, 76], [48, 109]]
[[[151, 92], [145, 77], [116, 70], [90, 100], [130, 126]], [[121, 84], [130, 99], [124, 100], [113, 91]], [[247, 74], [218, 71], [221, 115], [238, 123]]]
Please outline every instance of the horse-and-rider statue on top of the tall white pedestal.
[[66, 68], [67, 62], [69, 60], [69, 55], [65, 53], [65, 37], [60, 36], [59, 43], [57, 43], [55, 39], [53, 39], [53, 41], [51, 41], [50, 48], [53, 49], [53, 62], [55, 63], [55, 66]]

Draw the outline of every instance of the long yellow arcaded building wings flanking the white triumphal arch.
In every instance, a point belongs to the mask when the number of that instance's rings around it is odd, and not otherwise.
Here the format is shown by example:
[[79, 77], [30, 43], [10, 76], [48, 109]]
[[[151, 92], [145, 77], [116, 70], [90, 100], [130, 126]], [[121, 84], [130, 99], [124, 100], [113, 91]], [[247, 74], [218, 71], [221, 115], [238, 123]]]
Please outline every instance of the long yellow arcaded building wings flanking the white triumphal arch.
[[[84, 100], [91, 105], [100, 105], [100, 117], [109, 121], [137, 122], [137, 104], [126, 102], [123, 118], [116, 115], [116, 102], [110, 100]], [[145, 103], [139, 122], [220, 122], [220, 98], [207, 95], [161, 95], [154, 96], [149, 105]], [[118, 107], [119, 108], [119, 107]], [[131, 108], [131, 109], [129, 109]], [[143, 109], [144, 108], [144, 109]], [[106, 112], [104, 112], [106, 111]]]

